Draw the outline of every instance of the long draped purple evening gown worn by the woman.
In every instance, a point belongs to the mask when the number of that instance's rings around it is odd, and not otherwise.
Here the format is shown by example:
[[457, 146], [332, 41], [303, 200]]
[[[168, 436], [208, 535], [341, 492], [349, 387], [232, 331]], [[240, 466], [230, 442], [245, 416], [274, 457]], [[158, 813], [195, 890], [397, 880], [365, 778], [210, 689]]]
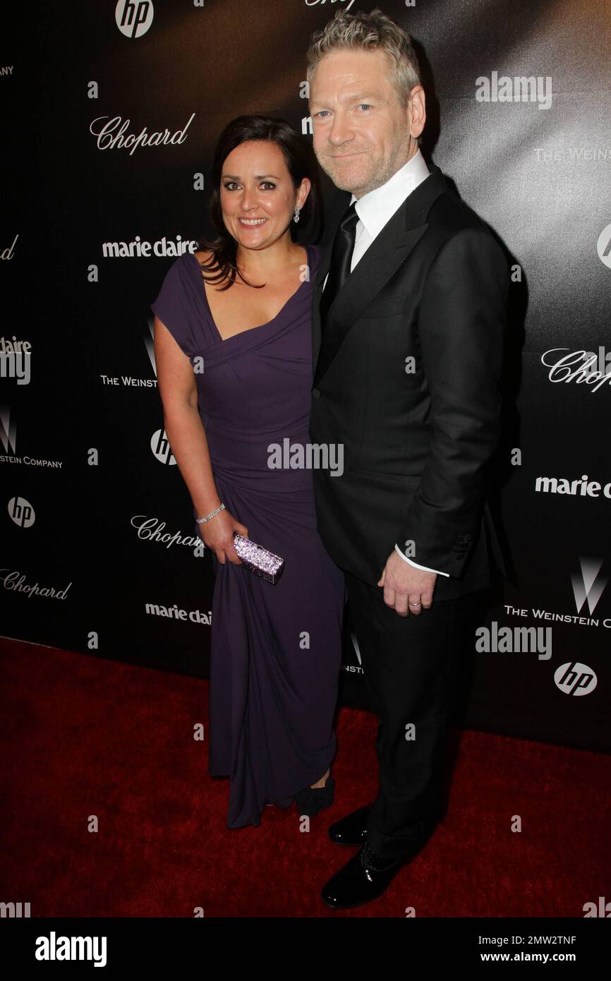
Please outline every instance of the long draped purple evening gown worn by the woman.
[[203, 358], [199, 412], [221, 500], [249, 538], [284, 559], [272, 585], [212, 553], [209, 770], [229, 775], [229, 828], [258, 826], [268, 802], [289, 806], [335, 752], [343, 574], [317, 532], [312, 471], [268, 466], [272, 443], [309, 441], [319, 260], [308, 246], [310, 280], [274, 320], [227, 340], [190, 252], [151, 305], [191, 363]]

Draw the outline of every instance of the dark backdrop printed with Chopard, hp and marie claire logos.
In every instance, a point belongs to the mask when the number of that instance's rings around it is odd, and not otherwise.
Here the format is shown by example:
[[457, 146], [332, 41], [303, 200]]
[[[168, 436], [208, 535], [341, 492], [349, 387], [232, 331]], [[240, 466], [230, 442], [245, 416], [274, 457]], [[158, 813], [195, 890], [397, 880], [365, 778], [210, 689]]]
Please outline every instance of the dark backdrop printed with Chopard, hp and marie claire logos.
[[[374, 6], [82, 0], [2, 26], [2, 635], [207, 676], [212, 559], [164, 433], [149, 304], [212, 231], [221, 129], [263, 113], [311, 139], [310, 34]], [[609, 750], [611, 6], [381, 6], [418, 42], [426, 155], [511, 264], [509, 580], [466, 652], [466, 722]], [[344, 197], [324, 187], [332, 218]], [[344, 634], [342, 700], [365, 703]]]

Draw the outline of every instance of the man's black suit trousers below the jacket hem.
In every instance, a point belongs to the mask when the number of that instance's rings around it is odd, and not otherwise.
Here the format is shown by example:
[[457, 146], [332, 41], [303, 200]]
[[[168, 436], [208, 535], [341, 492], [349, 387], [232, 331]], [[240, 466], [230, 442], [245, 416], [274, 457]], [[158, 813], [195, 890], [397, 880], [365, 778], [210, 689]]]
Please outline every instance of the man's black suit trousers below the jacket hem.
[[399, 616], [372, 587], [346, 573], [363, 679], [379, 720], [379, 792], [367, 840], [388, 862], [425, 841], [442, 813], [446, 750], [464, 644], [478, 594], [433, 601]]

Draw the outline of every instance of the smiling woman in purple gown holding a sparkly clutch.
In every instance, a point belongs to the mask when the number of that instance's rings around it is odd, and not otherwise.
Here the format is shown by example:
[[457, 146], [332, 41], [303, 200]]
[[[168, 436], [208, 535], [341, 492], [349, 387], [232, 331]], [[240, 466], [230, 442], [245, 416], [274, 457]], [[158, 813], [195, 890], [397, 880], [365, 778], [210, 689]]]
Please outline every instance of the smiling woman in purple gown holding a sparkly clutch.
[[[289, 465], [309, 440], [320, 259], [291, 232], [320, 220], [316, 167], [287, 123], [233, 120], [213, 163], [218, 238], [176, 259], [151, 305], [166, 433], [214, 556], [209, 770], [229, 775], [229, 828], [333, 797], [343, 574], [312, 471]], [[240, 562], [234, 532], [284, 559], [277, 583]]]

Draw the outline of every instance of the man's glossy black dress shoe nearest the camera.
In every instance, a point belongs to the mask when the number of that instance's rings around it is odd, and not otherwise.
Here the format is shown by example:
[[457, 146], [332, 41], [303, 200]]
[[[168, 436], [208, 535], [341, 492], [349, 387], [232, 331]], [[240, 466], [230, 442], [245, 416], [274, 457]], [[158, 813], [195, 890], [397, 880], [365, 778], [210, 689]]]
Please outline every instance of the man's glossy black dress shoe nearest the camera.
[[331, 876], [321, 893], [323, 901], [333, 909], [349, 909], [350, 906], [360, 906], [377, 900], [399, 869], [415, 857], [422, 847], [422, 842], [414, 842], [413, 852], [401, 855], [390, 864], [384, 864], [380, 855], [366, 842], [343, 868]]

